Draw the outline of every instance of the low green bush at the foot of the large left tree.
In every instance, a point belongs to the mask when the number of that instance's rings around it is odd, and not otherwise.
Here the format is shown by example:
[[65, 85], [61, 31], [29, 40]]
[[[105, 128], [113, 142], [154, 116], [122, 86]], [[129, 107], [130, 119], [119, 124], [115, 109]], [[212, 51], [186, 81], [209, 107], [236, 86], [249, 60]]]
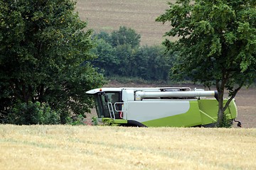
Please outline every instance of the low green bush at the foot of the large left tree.
[[54, 125], [60, 123], [60, 113], [46, 103], [16, 103], [8, 115], [7, 123], [16, 125]]

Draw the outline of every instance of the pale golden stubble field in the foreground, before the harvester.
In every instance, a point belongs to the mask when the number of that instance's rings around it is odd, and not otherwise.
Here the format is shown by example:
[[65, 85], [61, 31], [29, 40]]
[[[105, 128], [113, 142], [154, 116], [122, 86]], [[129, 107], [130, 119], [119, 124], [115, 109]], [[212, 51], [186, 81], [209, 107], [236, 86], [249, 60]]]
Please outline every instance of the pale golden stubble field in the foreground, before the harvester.
[[0, 125], [0, 169], [256, 169], [256, 129]]

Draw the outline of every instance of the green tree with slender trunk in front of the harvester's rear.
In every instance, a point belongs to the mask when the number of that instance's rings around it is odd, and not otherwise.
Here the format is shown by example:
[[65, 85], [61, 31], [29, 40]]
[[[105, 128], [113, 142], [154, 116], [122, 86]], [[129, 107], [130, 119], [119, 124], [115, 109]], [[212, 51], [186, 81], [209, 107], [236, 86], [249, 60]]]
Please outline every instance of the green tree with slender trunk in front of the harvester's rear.
[[[169, 51], [177, 52], [171, 69], [178, 79], [188, 76], [218, 90], [218, 123], [242, 86], [256, 75], [256, 1], [179, 0], [156, 21], [171, 23], [165, 40]], [[225, 90], [230, 98], [223, 103]]]

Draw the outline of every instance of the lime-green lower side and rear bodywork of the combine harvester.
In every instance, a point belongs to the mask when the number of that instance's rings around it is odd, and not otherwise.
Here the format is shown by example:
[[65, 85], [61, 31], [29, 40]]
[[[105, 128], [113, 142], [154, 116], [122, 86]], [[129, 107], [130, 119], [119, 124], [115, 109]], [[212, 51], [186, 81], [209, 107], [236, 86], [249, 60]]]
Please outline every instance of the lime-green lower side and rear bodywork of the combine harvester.
[[[224, 104], [226, 101], [227, 100], [224, 100]], [[148, 127], [191, 127], [196, 125], [209, 125], [217, 122], [218, 101], [215, 98], [199, 99], [198, 101], [190, 101], [189, 103], [190, 108], [186, 113], [142, 123]], [[237, 117], [235, 100], [231, 101], [230, 106], [225, 111], [225, 115], [227, 115], [230, 120]]]

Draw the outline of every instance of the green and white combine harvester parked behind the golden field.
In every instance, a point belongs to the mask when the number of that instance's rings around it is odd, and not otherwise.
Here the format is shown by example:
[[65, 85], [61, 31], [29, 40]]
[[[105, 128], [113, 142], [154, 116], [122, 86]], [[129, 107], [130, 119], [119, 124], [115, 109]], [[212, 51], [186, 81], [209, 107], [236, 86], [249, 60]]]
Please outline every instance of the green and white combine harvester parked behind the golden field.
[[[110, 125], [213, 127], [218, 120], [217, 91], [159, 87], [102, 88], [86, 93], [95, 97], [98, 121]], [[235, 120], [235, 100], [230, 102], [225, 115], [230, 121]]]

